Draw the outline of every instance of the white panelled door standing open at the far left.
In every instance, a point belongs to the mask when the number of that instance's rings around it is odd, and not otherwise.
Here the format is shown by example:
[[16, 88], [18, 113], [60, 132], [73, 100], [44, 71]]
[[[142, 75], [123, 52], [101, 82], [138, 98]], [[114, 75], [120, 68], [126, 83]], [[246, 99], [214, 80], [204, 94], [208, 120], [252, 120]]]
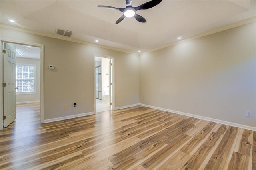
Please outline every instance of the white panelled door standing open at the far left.
[[16, 52], [15, 49], [7, 43], [4, 43], [4, 50], [4, 127], [7, 127], [16, 119]]

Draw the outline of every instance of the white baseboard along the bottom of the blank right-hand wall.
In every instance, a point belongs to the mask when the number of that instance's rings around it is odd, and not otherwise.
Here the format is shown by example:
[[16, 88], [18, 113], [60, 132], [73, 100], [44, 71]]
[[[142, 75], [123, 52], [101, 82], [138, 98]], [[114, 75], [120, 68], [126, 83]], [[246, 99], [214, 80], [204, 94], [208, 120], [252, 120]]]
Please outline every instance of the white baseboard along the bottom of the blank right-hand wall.
[[179, 115], [185, 115], [185, 116], [189, 116], [189, 117], [203, 119], [203, 120], [206, 120], [206, 121], [211, 121], [211, 122], [221, 123], [221, 124], [224, 124], [224, 125], [230, 125], [230, 126], [233, 126], [233, 127], [244, 128], [244, 129], [247, 129], [247, 130], [256, 131], [256, 127], [251, 127], [251, 126], [242, 125], [242, 124], [233, 123], [233, 122], [228, 122], [228, 121], [222, 121], [222, 120], [219, 120], [219, 119], [204, 117], [204, 116], [200, 116], [200, 115], [194, 115], [194, 114], [191, 114], [191, 113], [184, 113], [184, 112], [180, 112], [180, 111], [174, 111], [174, 110], [165, 109], [165, 108], [156, 107], [156, 106], [151, 106], [151, 105], [145, 105], [145, 104], [142, 104], [142, 103], [140, 103], [140, 105], [145, 106], [145, 107], [150, 107], [150, 108], [153, 108], [153, 109], [162, 110], [162, 111], [177, 113]]

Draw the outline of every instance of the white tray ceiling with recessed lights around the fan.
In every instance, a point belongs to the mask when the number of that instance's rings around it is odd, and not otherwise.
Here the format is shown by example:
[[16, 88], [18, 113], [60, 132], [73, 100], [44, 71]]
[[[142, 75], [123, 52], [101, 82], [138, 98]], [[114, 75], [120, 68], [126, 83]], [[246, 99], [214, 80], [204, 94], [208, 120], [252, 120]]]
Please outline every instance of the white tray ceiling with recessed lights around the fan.
[[[145, 0], [133, 0], [139, 6]], [[256, 16], [255, 0], [162, 0], [137, 14], [146, 18], [116, 20], [122, 12], [97, 5], [124, 8], [125, 0], [1, 0], [1, 23], [55, 34], [73, 31], [71, 38], [130, 52], [156, 49]], [[11, 23], [8, 19], [15, 20]], [[99, 42], [95, 42], [99, 40]]]

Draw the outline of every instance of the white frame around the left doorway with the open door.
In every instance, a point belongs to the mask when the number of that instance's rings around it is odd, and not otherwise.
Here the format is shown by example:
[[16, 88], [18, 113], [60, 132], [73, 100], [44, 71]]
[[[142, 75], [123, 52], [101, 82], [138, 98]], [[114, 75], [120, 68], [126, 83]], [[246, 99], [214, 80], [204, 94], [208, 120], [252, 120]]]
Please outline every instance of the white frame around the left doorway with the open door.
[[41, 115], [41, 123], [44, 123], [44, 45], [36, 44], [31, 42], [22, 42], [17, 40], [10, 40], [6, 38], [1, 38], [1, 56], [0, 56], [0, 130], [3, 129], [3, 43], [14, 43], [21, 45], [31, 45], [34, 47], [40, 48], [40, 115]]

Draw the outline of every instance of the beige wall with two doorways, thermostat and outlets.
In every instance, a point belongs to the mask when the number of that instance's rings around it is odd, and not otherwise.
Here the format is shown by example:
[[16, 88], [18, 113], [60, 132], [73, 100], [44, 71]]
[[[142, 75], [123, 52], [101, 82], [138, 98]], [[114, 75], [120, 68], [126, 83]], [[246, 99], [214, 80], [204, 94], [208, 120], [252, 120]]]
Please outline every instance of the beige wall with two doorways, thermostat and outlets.
[[94, 111], [94, 54], [115, 58], [115, 107], [139, 103], [138, 55], [6, 28], [1, 38], [44, 45], [44, 120]]

